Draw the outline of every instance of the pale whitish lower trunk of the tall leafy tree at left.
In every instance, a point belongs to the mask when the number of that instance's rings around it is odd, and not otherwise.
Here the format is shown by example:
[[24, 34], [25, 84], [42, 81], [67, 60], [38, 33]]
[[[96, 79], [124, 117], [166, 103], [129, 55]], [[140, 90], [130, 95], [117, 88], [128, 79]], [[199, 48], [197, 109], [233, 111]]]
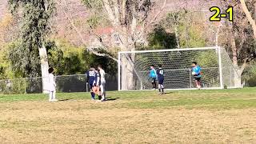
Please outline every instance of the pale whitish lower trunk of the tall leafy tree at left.
[[47, 58], [47, 51], [46, 46], [42, 45], [42, 48], [39, 48], [39, 56], [40, 56], [40, 62], [41, 62], [41, 71], [42, 71], [42, 92], [46, 94], [47, 91], [47, 85], [48, 85], [48, 58]]

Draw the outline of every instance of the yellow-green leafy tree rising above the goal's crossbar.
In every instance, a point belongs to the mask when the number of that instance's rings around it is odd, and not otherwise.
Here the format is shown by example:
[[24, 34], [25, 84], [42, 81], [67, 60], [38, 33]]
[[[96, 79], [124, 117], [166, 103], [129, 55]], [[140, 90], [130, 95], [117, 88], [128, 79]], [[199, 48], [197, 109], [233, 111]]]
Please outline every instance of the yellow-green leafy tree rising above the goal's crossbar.
[[[201, 18], [201, 19], [200, 19]], [[166, 14], [166, 18], [160, 22], [165, 30], [174, 32], [178, 48], [206, 46], [205, 23], [198, 13], [188, 10], [179, 10]]]

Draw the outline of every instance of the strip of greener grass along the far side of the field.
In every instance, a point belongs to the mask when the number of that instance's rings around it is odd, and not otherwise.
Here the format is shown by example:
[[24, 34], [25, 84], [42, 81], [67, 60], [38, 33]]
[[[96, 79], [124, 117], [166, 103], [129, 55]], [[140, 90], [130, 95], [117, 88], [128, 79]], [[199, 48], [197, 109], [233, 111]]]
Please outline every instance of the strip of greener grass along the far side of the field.
[[[115, 108], [157, 109], [183, 107], [186, 109], [244, 109], [256, 107], [256, 88], [233, 90], [113, 91], [107, 93]], [[89, 100], [90, 93], [59, 93], [61, 102]], [[47, 94], [0, 95], [0, 102], [47, 101]], [[114, 102], [114, 103], [113, 103]], [[90, 107], [89, 107], [90, 108]], [[94, 106], [94, 109], [104, 106]]]

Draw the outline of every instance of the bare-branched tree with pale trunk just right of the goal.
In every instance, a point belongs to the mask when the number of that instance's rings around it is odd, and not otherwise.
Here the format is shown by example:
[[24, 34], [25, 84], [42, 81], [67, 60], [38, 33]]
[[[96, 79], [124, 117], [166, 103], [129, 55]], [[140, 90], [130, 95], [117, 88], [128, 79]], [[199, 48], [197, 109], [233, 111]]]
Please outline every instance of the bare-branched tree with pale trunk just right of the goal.
[[[250, 1], [253, 2], [253, 1]], [[238, 73], [238, 78], [234, 78], [236, 86], [241, 86], [241, 75], [245, 70], [246, 66], [253, 62], [255, 59], [255, 34], [254, 24], [251, 21], [251, 14], [246, 14], [244, 11], [244, 4], [241, 2], [234, 2], [234, 22], [224, 22], [222, 26], [223, 38], [222, 45], [227, 46], [228, 50], [231, 51], [232, 62]], [[253, 4], [253, 3], [250, 3]], [[230, 6], [230, 3], [222, 1], [223, 10]], [[250, 5], [254, 6], [254, 5]], [[247, 19], [248, 17], [251, 17]], [[225, 40], [224, 40], [225, 39]]]

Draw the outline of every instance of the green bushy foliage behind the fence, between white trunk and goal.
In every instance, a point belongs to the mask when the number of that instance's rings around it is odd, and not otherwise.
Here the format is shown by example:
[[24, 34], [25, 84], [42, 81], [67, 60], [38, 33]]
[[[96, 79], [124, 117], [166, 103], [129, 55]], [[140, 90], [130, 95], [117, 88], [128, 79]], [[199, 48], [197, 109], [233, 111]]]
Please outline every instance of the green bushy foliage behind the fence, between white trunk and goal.
[[[117, 73], [117, 64], [111, 58], [98, 57], [82, 47], [70, 45], [69, 42], [63, 40], [46, 42], [46, 49], [49, 65], [54, 67], [58, 75], [85, 74], [90, 65], [102, 65], [108, 74]], [[108, 54], [106, 50], [98, 50], [98, 52]]]

